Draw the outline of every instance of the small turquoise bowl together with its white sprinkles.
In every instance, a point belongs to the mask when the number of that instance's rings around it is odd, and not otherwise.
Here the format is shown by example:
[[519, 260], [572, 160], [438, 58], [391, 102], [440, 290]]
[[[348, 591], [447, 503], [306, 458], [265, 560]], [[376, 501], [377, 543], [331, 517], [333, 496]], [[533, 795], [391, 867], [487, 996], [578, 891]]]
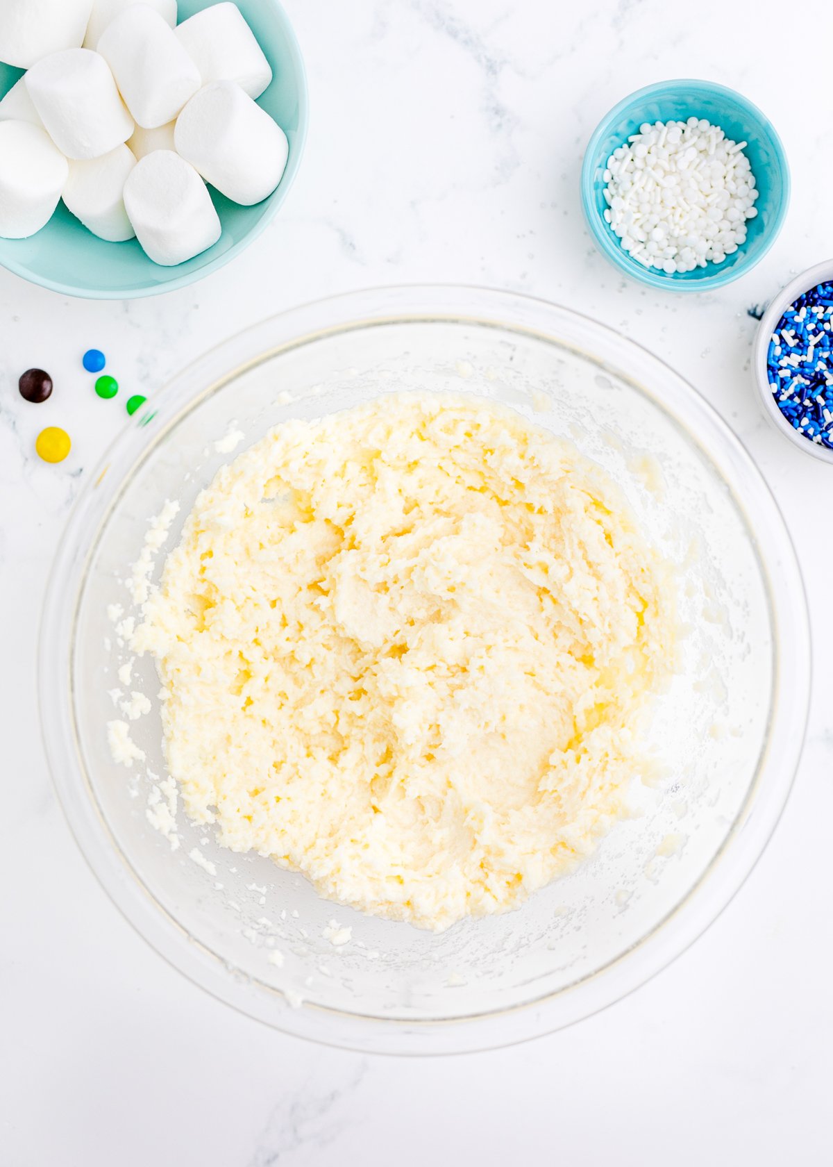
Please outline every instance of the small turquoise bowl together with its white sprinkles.
[[705, 292], [769, 251], [790, 202], [790, 169], [766, 117], [724, 85], [637, 90], [596, 127], [581, 172], [593, 240], [651, 287]]

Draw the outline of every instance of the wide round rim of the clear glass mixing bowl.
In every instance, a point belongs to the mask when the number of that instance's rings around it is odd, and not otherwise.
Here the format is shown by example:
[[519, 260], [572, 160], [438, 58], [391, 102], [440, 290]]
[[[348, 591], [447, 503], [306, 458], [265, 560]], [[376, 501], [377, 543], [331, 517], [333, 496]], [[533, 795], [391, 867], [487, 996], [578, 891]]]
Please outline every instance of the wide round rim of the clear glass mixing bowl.
[[[163, 440], [183, 411], [195, 407], [218, 385], [287, 347], [310, 343], [340, 330], [438, 320], [487, 327], [498, 323], [538, 340], [561, 344], [565, 338], [560, 335], [560, 326], [573, 328], [575, 331], [569, 347], [587, 352], [592, 343], [594, 359], [600, 361], [606, 359], [608, 348], [617, 352], [624, 344], [626, 356], [634, 359], [637, 368], [662, 371], [666, 394], [670, 389], [672, 397], [681, 394], [677, 404], [684, 401], [702, 424], [704, 429], [693, 440], [706, 456], [709, 455], [704, 446], [702, 432], [707, 435], [710, 432], [722, 442], [723, 461], [715, 462], [715, 470], [724, 480], [724, 470], [732, 478], [746, 476], [746, 485], [751, 489], [744, 489], [742, 496], [729, 481], [727, 488], [733, 491], [752, 538], [761, 524], [752, 524], [748, 511], [756, 505], [762, 505], [765, 511], [765, 530], [768, 539], [772, 540], [771, 548], [764, 558], [757, 539], [754, 539], [754, 546], [769, 592], [775, 656], [768, 736], [744, 808], [727, 832], [722, 847], [680, 904], [639, 943], [584, 980], [538, 1000], [475, 1016], [388, 1021], [307, 1002], [301, 1008], [288, 1008], [280, 990], [253, 978], [242, 981], [239, 973], [232, 976], [233, 970], [201, 942], [188, 936], [177, 921], [166, 918], [162, 906], [152, 900], [145, 886], [139, 883], [127, 858], [113, 845], [98, 806], [86, 799], [82, 802], [78, 796], [79, 790], [85, 794], [85, 776], [75, 757], [75, 725], [70, 707], [71, 642], [80, 594], [78, 591], [77, 596], [76, 591], [84, 582], [91, 548], [127, 474], [133, 471], [135, 460], [147, 453], [149, 443], [144, 432], [149, 420], [147, 408], [126, 422], [79, 492], [55, 555], [38, 634], [38, 707], [52, 783], [82, 854], [125, 918], [173, 967], [249, 1016], [323, 1044], [406, 1055], [466, 1053], [541, 1036], [608, 1007], [681, 955], [734, 897], [780, 818], [806, 731], [811, 672], [807, 607], [800, 568], [777, 502], [761, 471], [718, 412], [665, 362], [629, 337], [569, 308], [512, 292], [449, 285], [379, 287], [314, 301], [251, 326], [209, 350], [174, 377], [154, 401], [160, 414], [170, 408], [156, 440]], [[268, 344], [264, 347], [267, 337]], [[219, 377], [218, 357], [224, 358], [224, 371]], [[608, 365], [634, 382], [637, 373], [626, 373], [618, 361], [621, 351], [618, 359], [608, 361]], [[211, 369], [214, 371], [209, 372]], [[126, 466], [125, 474], [108, 473], [119, 464]], [[719, 464], [723, 469], [719, 469]], [[788, 595], [789, 602], [784, 599]], [[785, 651], [788, 645], [789, 652]], [[264, 990], [268, 990], [270, 994]]]

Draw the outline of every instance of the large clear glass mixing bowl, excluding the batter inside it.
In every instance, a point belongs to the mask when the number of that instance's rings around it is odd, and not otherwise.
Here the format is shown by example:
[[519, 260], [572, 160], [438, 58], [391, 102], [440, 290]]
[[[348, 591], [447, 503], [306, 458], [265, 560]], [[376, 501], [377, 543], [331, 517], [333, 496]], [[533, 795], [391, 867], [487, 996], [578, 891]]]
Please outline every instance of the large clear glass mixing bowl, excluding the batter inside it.
[[[146, 762], [113, 762], [106, 725], [135, 616], [125, 578], [149, 520], [181, 503], [154, 560], [231, 453], [288, 418], [391, 391], [449, 390], [512, 406], [574, 441], [621, 484], [679, 567], [679, 672], [652, 745], [665, 777], [570, 875], [505, 915], [434, 935], [318, 897], [299, 874], [217, 846], [182, 811], [175, 850], [158, 679], [127, 686]], [[448, 1053], [556, 1029], [681, 952], [754, 866], [804, 734], [807, 614], [778, 509], [737, 439], [667, 365], [564, 308], [478, 288], [385, 288], [267, 320], [153, 400], [88, 481], [57, 553], [40, 647], [43, 734], [58, 797], [92, 869], [173, 965], [287, 1033], [363, 1050]], [[219, 440], [220, 449], [217, 449]], [[226, 452], [223, 453], [222, 450]], [[156, 825], [153, 825], [150, 819]], [[330, 921], [348, 943], [324, 937]], [[271, 953], [278, 951], [280, 956]], [[282, 963], [281, 962], [282, 957]]]

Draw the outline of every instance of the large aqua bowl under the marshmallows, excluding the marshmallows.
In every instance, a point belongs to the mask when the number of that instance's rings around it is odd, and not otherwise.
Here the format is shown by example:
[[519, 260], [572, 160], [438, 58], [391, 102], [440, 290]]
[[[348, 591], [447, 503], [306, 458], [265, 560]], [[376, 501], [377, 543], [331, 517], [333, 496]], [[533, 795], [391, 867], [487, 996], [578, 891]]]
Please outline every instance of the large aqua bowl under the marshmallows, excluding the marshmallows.
[[[216, 0], [180, 0], [180, 20]], [[289, 158], [278, 189], [254, 207], [238, 207], [210, 187], [223, 233], [201, 256], [176, 267], [152, 263], [135, 239], [105, 243], [86, 230], [63, 203], [47, 226], [29, 239], [0, 239], [0, 264], [16, 275], [64, 295], [89, 300], [130, 300], [194, 284], [247, 247], [274, 218], [298, 173], [307, 137], [308, 97], [301, 50], [278, 0], [237, 0], [272, 67], [273, 79], [258, 98], [289, 140]], [[0, 96], [22, 70], [0, 64]]]

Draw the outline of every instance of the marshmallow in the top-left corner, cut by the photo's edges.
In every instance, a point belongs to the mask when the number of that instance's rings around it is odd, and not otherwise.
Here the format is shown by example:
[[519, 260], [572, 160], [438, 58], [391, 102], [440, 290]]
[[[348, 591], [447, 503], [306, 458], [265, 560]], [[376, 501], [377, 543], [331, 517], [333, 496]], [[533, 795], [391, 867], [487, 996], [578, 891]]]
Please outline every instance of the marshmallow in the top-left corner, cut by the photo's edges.
[[0, 0], [0, 61], [30, 69], [41, 57], [77, 49], [92, 0]]

